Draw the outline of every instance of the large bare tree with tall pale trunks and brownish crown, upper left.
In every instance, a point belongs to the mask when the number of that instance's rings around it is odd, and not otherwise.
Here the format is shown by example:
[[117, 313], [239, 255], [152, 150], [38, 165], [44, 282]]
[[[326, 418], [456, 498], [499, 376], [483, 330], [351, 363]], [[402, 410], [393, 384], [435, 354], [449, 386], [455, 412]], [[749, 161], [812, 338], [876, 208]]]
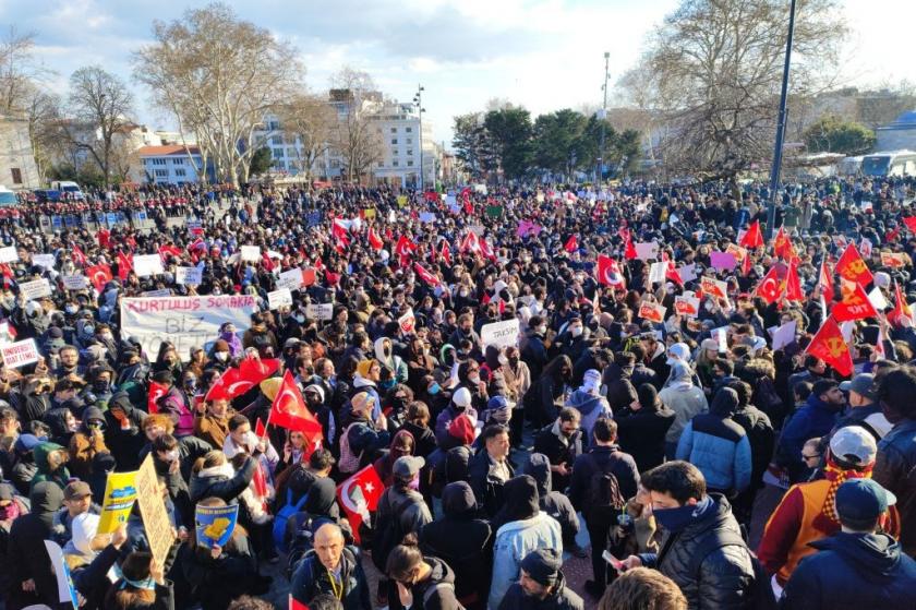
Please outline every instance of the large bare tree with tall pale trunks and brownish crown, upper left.
[[248, 181], [251, 157], [273, 135], [264, 118], [301, 88], [297, 50], [224, 3], [154, 22], [153, 37], [134, 56], [134, 77], [194, 133], [219, 177]]

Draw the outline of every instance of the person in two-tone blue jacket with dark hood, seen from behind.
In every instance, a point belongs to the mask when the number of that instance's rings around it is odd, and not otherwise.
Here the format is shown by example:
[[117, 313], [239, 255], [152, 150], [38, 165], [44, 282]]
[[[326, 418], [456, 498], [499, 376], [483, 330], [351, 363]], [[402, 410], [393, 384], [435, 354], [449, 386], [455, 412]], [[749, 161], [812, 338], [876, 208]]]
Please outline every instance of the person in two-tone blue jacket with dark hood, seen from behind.
[[695, 417], [677, 443], [677, 459], [699, 468], [707, 487], [723, 492], [747, 489], [754, 467], [750, 441], [744, 428], [731, 419], [737, 406], [735, 391], [723, 387], [713, 398], [710, 412]]

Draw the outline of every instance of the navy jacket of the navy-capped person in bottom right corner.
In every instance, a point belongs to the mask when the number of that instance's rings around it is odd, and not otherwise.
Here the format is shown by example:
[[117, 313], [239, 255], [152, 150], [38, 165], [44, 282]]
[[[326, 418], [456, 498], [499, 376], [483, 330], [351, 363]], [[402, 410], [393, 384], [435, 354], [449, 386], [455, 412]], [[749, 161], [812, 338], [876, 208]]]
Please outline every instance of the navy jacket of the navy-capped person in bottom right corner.
[[810, 543], [786, 583], [782, 610], [904, 610], [916, 595], [916, 561], [884, 534], [845, 534]]

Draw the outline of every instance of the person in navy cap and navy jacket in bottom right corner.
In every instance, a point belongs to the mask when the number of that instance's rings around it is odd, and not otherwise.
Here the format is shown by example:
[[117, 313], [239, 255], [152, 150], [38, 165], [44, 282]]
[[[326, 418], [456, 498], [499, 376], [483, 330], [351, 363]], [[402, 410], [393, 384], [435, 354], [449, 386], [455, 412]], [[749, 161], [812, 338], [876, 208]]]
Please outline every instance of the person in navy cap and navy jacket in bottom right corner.
[[851, 479], [836, 489], [841, 530], [811, 542], [783, 591], [780, 608], [807, 610], [904, 610], [913, 608], [916, 560], [880, 519], [896, 498], [871, 479]]

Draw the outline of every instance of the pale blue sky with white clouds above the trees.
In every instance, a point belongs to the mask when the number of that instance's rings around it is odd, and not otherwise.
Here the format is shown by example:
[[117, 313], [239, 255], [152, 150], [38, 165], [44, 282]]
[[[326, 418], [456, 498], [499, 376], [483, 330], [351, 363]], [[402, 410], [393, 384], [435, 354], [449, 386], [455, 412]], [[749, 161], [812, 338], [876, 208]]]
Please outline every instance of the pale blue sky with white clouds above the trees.
[[[847, 83], [916, 83], [912, 0], [841, 0], [852, 36]], [[0, 0], [0, 25], [37, 34], [38, 53], [65, 92], [77, 68], [97, 63], [130, 81], [130, 52], [149, 40], [154, 19], [171, 21], [206, 2], [173, 0]], [[328, 86], [343, 64], [370, 72], [391, 97], [425, 87], [426, 117], [449, 144], [451, 117], [507, 98], [538, 115], [600, 104], [604, 51], [610, 89], [637, 59], [644, 35], [677, 0], [258, 0], [229, 2], [238, 14], [292, 40], [310, 87]], [[788, 5], [788, 0], [786, 0]], [[171, 128], [136, 93], [142, 122]]]

